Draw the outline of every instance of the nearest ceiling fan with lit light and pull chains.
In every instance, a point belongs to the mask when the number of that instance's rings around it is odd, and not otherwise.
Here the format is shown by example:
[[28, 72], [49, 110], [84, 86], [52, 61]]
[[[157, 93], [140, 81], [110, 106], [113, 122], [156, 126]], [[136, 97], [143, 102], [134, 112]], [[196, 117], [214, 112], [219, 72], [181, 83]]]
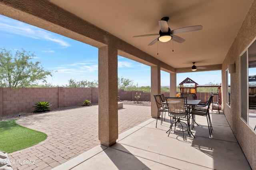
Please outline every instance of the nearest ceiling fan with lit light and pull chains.
[[165, 42], [170, 41], [171, 39], [172, 39], [172, 41], [176, 41], [178, 43], [183, 43], [185, 41], [185, 39], [183, 39], [182, 37], [179, 37], [177, 35], [174, 35], [174, 34], [185, 33], [185, 32], [190, 32], [190, 31], [197, 31], [197, 30], [201, 30], [203, 28], [202, 25], [195, 25], [195, 26], [183, 27], [183, 28], [171, 30], [168, 27], [168, 23], [167, 23], [168, 20], [169, 20], [169, 17], [163, 17], [161, 20], [158, 21], [160, 31], [157, 34], [136, 35], [133, 37], [146, 37], [146, 36], [152, 36], [152, 35], [160, 35], [160, 37], [157, 37], [148, 45], [153, 45], [158, 40], [165, 43]]

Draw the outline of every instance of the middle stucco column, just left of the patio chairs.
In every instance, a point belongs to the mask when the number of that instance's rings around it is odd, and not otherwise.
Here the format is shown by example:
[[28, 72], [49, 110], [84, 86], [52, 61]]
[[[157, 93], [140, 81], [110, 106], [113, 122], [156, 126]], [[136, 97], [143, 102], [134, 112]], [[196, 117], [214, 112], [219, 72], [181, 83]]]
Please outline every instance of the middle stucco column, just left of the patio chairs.
[[151, 66], [151, 116], [156, 118], [158, 111], [153, 95], [161, 93], [160, 66]]

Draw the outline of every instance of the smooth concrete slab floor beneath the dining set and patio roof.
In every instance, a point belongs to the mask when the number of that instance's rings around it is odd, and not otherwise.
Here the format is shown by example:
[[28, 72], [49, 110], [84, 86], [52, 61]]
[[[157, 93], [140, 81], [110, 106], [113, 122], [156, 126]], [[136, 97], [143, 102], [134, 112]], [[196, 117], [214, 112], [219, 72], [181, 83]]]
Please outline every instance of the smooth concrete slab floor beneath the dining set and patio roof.
[[156, 119], [119, 135], [111, 147], [98, 145], [57, 166], [54, 170], [78, 169], [180, 169], [180, 170], [250, 170], [223, 113], [211, 113], [212, 139], [206, 117], [196, 117], [199, 125], [192, 130], [195, 138], [184, 133], [166, 134], [170, 119], [156, 125]]

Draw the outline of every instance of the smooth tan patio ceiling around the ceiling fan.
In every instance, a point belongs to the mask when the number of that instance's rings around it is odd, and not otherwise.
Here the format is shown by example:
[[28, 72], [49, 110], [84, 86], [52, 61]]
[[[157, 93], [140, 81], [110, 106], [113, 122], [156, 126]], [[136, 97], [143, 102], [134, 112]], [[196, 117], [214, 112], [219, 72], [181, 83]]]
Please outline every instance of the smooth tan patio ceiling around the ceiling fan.
[[[174, 68], [222, 64], [252, 0], [50, 0]], [[202, 25], [200, 31], [176, 34], [186, 41], [148, 46], [168, 16], [171, 30]], [[172, 51], [174, 49], [174, 52]], [[158, 54], [157, 54], [158, 53]]]

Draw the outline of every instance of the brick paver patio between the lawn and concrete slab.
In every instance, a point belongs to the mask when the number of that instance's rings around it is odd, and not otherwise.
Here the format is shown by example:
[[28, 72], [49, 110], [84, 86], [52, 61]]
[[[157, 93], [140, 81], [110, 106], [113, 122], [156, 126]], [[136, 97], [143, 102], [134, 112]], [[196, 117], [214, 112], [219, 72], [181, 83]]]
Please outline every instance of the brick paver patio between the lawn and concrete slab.
[[[124, 105], [118, 110], [118, 133], [150, 118], [150, 107]], [[33, 147], [8, 154], [14, 170], [49, 170], [100, 144], [98, 106], [21, 117], [16, 122], [48, 137]]]

